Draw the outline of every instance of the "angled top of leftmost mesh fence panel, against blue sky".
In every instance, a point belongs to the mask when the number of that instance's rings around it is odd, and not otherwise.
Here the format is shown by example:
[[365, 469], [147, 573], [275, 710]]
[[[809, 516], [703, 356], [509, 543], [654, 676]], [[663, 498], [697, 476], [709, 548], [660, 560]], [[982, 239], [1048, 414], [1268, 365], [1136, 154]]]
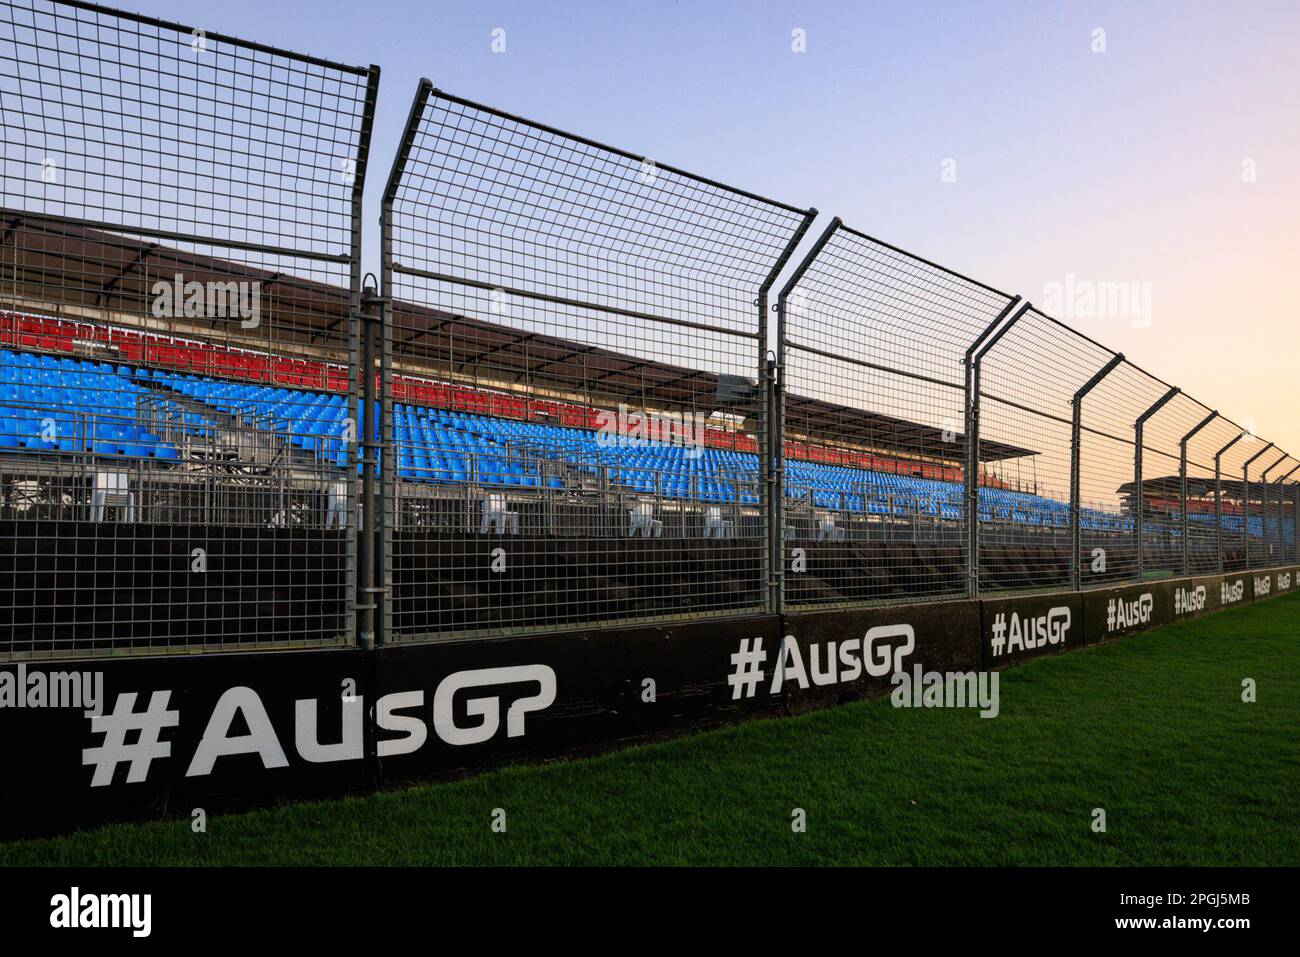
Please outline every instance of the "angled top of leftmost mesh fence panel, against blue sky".
[[4, 215], [246, 250], [263, 265], [346, 263], [377, 82], [377, 68], [92, 4], [9, 0]]

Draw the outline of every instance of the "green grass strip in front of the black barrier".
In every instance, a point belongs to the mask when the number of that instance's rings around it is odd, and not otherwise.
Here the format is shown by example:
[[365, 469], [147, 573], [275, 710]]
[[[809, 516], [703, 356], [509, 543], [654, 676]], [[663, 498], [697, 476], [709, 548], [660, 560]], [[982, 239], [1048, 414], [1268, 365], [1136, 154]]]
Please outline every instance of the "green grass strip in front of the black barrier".
[[1295, 865], [1297, 728], [1300, 594], [1006, 671], [996, 719], [879, 698], [203, 835], [0, 844], [0, 863]]

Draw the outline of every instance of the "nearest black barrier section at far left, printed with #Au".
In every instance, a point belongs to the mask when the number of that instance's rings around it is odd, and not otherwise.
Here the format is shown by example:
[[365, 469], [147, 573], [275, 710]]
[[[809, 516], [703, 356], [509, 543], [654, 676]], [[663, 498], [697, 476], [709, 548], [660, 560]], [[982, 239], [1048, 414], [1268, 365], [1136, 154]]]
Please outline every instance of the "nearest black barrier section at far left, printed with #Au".
[[0, 836], [369, 789], [369, 668], [350, 649], [0, 668]]

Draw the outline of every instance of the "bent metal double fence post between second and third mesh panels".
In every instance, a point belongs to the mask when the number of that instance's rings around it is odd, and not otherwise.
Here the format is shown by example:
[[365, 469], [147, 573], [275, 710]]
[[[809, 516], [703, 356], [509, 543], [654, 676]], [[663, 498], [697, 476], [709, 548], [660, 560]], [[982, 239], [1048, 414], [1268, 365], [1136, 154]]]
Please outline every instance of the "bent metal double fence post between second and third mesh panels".
[[[803, 220], [800, 222], [798, 229], [790, 237], [790, 241], [781, 250], [781, 255], [772, 264], [772, 270], [763, 280], [763, 285], [758, 287], [758, 368], [759, 376], [762, 378], [760, 389], [763, 403], [762, 408], [762, 423], [763, 423], [763, 439], [760, 454], [758, 456], [758, 482], [759, 488], [763, 490], [763, 520], [767, 523], [767, 534], [764, 536], [764, 554], [763, 554], [763, 580], [767, 583], [767, 611], [771, 615], [779, 614], [781, 610], [781, 572], [784, 571], [784, 547], [785, 538], [783, 531], [785, 502], [784, 490], [781, 484], [781, 468], [785, 459], [785, 442], [783, 436], [785, 432], [785, 423], [781, 413], [781, 397], [785, 390], [785, 377], [784, 367], [781, 360], [784, 358], [784, 350], [781, 348], [781, 339], [785, 335], [785, 328], [781, 325], [781, 319], [784, 316], [783, 303], [785, 302], [785, 293], [790, 287], [788, 282], [781, 287], [780, 298], [776, 307], [776, 354], [775, 359], [768, 359], [768, 346], [767, 346], [767, 298], [772, 291], [772, 286], [776, 285], [776, 277], [781, 270], [789, 264], [790, 257], [794, 255], [794, 250], [798, 248], [800, 243], [803, 242], [803, 237], [807, 235], [809, 229], [812, 226], [812, 221], [816, 220], [818, 211], [809, 209], [803, 215]], [[833, 231], [840, 224], [840, 217], [831, 221], [828, 228]], [[829, 235], [823, 234], [818, 237], [818, 242], [814, 246], [815, 252], [820, 252], [822, 247], [826, 244], [826, 239]], [[807, 269], [811, 260], [805, 259], [798, 269], [796, 270], [792, 282], [798, 282]]]

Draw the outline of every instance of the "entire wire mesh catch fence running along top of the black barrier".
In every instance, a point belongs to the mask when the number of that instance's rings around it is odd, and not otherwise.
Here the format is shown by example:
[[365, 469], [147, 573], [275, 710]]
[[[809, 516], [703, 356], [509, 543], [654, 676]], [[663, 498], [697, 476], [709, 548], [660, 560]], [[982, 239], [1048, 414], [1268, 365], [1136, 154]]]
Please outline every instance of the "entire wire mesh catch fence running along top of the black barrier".
[[0, 0], [0, 658], [1300, 558], [1300, 460], [1046, 311], [426, 81], [363, 282], [377, 86]]

